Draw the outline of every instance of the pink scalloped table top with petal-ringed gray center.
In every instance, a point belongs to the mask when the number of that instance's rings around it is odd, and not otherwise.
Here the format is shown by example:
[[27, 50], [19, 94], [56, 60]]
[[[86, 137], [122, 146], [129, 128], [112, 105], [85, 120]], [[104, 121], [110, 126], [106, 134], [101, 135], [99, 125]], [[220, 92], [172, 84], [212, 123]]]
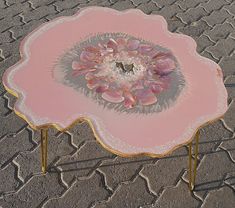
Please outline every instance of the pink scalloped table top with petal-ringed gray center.
[[227, 110], [220, 67], [162, 16], [89, 7], [30, 33], [3, 76], [32, 128], [86, 120], [122, 155], [161, 157]]

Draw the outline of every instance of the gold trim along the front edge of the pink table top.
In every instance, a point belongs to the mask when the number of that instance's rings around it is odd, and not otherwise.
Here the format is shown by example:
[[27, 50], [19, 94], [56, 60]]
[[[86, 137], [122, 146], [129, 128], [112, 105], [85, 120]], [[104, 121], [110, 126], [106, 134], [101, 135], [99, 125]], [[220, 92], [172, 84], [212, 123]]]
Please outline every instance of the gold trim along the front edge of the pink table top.
[[[5, 89], [10, 93], [12, 94], [13, 96], [19, 98], [18, 94], [16, 92], [14, 92], [13, 90], [11, 90], [10, 88], [8, 88], [7, 86], [4, 85], [3, 83], [3, 86], [5, 87]], [[205, 122], [204, 124], [200, 125], [198, 128], [196, 128], [195, 132], [193, 133], [192, 137], [187, 140], [186, 142], [184, 143], [181, 143], [181, 144], [178, 144], [176, 146], [174, 146], [173, 148], [171, 148], [169, 151], [167, 151], [166, 153], [162, 153], [162, 154], [154, 154], [154, 153], [149, 153], [149, 152], [141, 152], [141, 153], [130, 153], [130, 154], [127, 154], [127, 153], [122, 153], [118, 150], [114, 150], [112, 147], [109, 147], [108, 145], [104, 144], [104, 142], [100, 139], [100, 137], [98, 136], [98, 134], [96, 133], [96, 130], [91, 122], [91, 120], [87, 117], [80, 117], [80, 118], [77, 118], [74, 122], [72, 122], [70, 125], [68, 125], [66, 128], [61, 128], [58, 124], [55, 124], [55, 123], [48, 123], [48, 124], [45, 124], [45, 125], [41, 125], [41, 126], [34, 126], [33, 124], [31, 124], [28, 119], [26, 118], [26, 116], [20, 112], [18, 112], [16, 109], [15, 109], [15, 106], [13, 108], [14, 112], [16, 113], [16, 115], [18, 115], [19, 117], [21, 117], [23, 120], [25, 120], [29, 126], [34, 129], [34, 130], [40, 130], [40, 129], [43, 129], [43, 128], [50, 128], [50, 127], [54, 127], [56, 128], [58, 131], [61, 131], [61, 132], [65, 132], [67, 131], [69, 128], [75, 126], [77, 123], [83, 123], [83, 122], [87, 122], [89, 124], [89, 126], [91, 127], [92, 131], [93, 131], [93, 134], [96, 138], [96, 140], [101, 144], [101, 146], [106, 149], [107, 151], [115, 154], [115, 155], [118, 155], [118, 156], [121, 156], [121, 157], [141, 157], [141, 156], [148, 156], [148, 157], [152, 157], [152, 158], [162, 158], [162, 157], [165, 157], [169, 154], [171, 154], [174, 150], [182, 147], [182, 146], [185, 146], [187, 144], [189, 144], [190, 142], [193, 141], [196, 133], [204, 126], [210, 124], [210, 123], [213, 123], [217, 120], [219, 120], [220, 118], [222, 118], [224, 116], [221, 115], [215, 119], [212, 119], [210, 121], [207, 121]]]

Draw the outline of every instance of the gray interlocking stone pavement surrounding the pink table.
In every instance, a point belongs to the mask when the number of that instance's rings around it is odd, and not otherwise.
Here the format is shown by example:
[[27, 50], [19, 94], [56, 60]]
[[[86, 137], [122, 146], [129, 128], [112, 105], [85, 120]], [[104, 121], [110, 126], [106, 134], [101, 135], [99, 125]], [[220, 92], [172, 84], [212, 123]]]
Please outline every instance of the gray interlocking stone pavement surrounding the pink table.
[[13, 112], [0, 84], [0, 207], [234, 208], [235, 0], [0, 0], [0, 76], [20, 59], [30, 31], [89, 5], [161, 14], [169, 30], [193, 37], [223, 69], [229, 110], [201, 131], [196, 189], [188, 190], [188, 149], [163, 159], [121, 158], [104, 150], [87, 123], [49, 132], [49, 172], [40, 173], [39, 132]]

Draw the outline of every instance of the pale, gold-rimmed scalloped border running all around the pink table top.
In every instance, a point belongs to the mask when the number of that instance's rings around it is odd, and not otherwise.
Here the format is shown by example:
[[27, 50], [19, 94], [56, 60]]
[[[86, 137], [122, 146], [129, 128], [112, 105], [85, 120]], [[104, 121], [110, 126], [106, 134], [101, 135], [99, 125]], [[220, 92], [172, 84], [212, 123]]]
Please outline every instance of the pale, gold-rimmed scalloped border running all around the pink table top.
[[[98, 133], [102, 136], [105, 135], [105, 128], [104, 126], [102, 127], [102, 121], [98, 121], [98, 118], [95, 118], [93, 115], [89, 115], [88, 116], [84, 116], [84, 115], [73, 115], [71, 116], [70, 120], [72, 121], [68, 121], [66, 126], [61, 126], [58, 123], [50, 123], [48, 118], [44, 118], [44, 119], [39, 119], [37, 118], [36, 120], [40, 121], [40, 124], [33, 124], [31, 123], [29, 120], [30, 116], [26, 114], [24, 114], [24, 108], [26, 107], [24, 105], [24, 101], [25, 101], [25, 97], [23, 95], [23, 93], [21, 92], [22, 90], [19, 89], [19, 86], [14, 86], [14, 84], [12, 86], [7, 86], [6, 83], [4, 83], [4, 80], [6, 80], [6, 77], [11, 78], [11, 76], [14, 75], [14, 71], [16, 71], [17, 68], [22, 67], [23, 65], [25, 65], [27, 63], [27, 60], [30, 58], [30, 47], [27, 45], [30, 45], [30, 43], [33, 41], [33, 38], [37, 37], [38, 35], [40, 35], [41, 33], [43, 33], [44, 31], [46, 31], [47, 29], [56, 26], [57, 24], [60, 24], [63, 21], [70, 21], [72, 19], [76, 19], [78, 18], [80, 15], [85, 14], [85, 12], [88, 12], [92, 9], [102, 9], [102, 10], [112, 10], [112, 12], [115, 12], [118, 15], [121, 15], [123, 13], [130, 13], [130, 12], [134, 12], [134, 13], [139, 13], [140, 15], [144, 16], [144, 18], [158, 18], [161, 19], [162, 21], [162, 25], [164, 26], [164, 30], [166, 32], [166, 34], [168, 35], [172, 35], [172, 36], [178, 36], [183, 38], [187, 44], [186, 47], [191, 47], [194, 53], [192, 53], [192, 56], [195, 56], [195, 58], [199, 58], [201, 59], [201, 61], [205, 61], [205, 62], [213, 62], [212, 60], [205, 58], [201, 55], [199, 55], [196, 51], [196, 47], [197, 47], [197, 43], [196, 41], [191, 38], [190, 36], [184, 35], [184, 34], [177, 34], [177, 33], [172, 33], [168, 30], [167, 28], [167, 22], [166, 20], [160, 16], [160, 15], [155, 15], [155, 14], [151, 14], [151, 15], [147, 15], [145, 13], [143, 13], [141, 10], [138, 9], [127, 9], [124, 11], [117, 11], [115, 9], [111, 9], [111, 8], [105, 8], [105, 7], [96, 7], [96, 6], [91, 6], [91, 7], [87, 7], [87, 8], [82, 8], [80, 9], [76, 14], [72, 15], [72, 16], [62, 16], [62, 17], [57, 17], [54, 20], [50, 21], [50, 22], [46, 22], [43, 23], [41, 26], [39, 26], [38, 28], [36, 28], [35, 30], [33, 30], [31, 33], [29, 33], [24, 39], [23, 41], [20, 43], [20, 55], [21, 55], [21, 59], [19, 62], [17, 62], [15, 65], [13, 65], [12, 67], [8, 68], [5, 73], [3, 74], [3, 85], [6, 88], [6, 90], [11, 93], [12, 95], [16, 96], [18, 99], [15, 103], [14, 106], [14, 111], [15, 113], [20, 116], [21, 118], [23, 118], [33, 129], [38, 130], [41, 128], [48, 128], [48, 127], [55, 127], [56, 129], [58, 129], [59, 131], [66, 131], [68, 130], [70, 127], [72, 127], [73, 125], [75, 125], [78, 122], [82, 122], [82, 121], [87, 121], [90, 125], [90, 127], [93, 130], [93, 133], [96, 137], [96, 139], [99, 141], [99, 143], [108, 151], [116, 154], [116, 155], [120, 155], [120, 156], [124, 156], [124, 157], [132, 157], [132, 156], [141, 156], [141, 155], [146, 155], [146, 156], [150, 156], [150, 157], [163, 157], [165, 155], [170, 154], [172, 151], [174, 151], [175, 149], [186, 145], [188, 143], [190, 143], [196, 132], [203, 126], [207, 125], [208, 123], [211, 123], [219, 118], [221, 118], [224, 113], [227, 110], [227, 106], [218, 106], [219, 110], [217, 112], [214, 113], [214, 115], [210, 115], [210, 116], [204, 116], [199, 118], [197, 121], [193, 122], [193, 125], [191, 125], [190, 127], [190, 131], [187, 133], [187, 135], [184, 135], [184, 141], [177, 141], [177, 139], [175, 139], [174, 141], [168, 143], [167, 145], [164, 146], [158, 146], [158, 152], [160, 151], [160, 154], [156, 154], [154, 152], [156, 152], [156, 149], [154, 150], [154, 148], [133, 148], [130, 145], [127, 145], [126, 143], [122, 142], [120, 139], [115, 138], [115, 143], [121, 144], [121, 146], [125, 147], [126, 149], [128, 149], [128, 151], [126, 152], [120, 152], [117, 149], [113, 148], [114, 146], [117, 146], [117, 144], [105, 144], [100, 137], [98, 136], [97, 132], [95, 129], [102, 129], [101, 131], [98, 131]], [[213, 62], [214, 63], [214, 62]], [[216, 63], [214, 63], [216, 64]], [[213, 69], [214, 70], [214, 69]], [[221, 83], [217, 82], [217, 87], [218, 90], [220, 92], [220, 96], [223, 97], [223, 99], [227, 100], [227, 91], [224, 87], [224, 89], [221, 89], [221, 86], [223, 84], [222, 81], [222, 70], [220, 69], [220, 67], [217, 67], [217, 72], [218, 75], [221, 77]], [[220, 85], [220, 87], [219, 87]], [[13, 90], [14, 89], [14, 90]], [[18, 90], [15, 90], [18, 89]], [[223, 92], [222, 92], [223, 91]], [[219, 104], [218, 104], [219, 105]], [[27, 109], [28, 110], [28, 109]], [[31, 112], [32, 113], [32, 112]], [[32, 113], [33, 115], [33, 113]], [[33, 115], [35, 116], [35, 115]], [[32, 117], [33, 117], [32, 116]], [[34, 119], [31, 119], [34, 120]], [[130, 153], [130, 149], [132, 149], [131, 153]]]

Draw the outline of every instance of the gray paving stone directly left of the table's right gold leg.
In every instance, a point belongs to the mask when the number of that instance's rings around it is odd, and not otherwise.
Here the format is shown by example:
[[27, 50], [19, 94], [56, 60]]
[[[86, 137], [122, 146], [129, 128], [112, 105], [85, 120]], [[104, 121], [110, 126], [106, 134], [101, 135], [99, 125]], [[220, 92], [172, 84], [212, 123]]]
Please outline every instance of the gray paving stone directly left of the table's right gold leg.
[[183, 147], [176, 150], [173, 156], [162, 158], [155, 164], [144, 165], [141, 174], [148, 178], [151, 190], [158, 194], [165, 187], [176, 185], [187, 167], [187, 161], [188, 154]]

